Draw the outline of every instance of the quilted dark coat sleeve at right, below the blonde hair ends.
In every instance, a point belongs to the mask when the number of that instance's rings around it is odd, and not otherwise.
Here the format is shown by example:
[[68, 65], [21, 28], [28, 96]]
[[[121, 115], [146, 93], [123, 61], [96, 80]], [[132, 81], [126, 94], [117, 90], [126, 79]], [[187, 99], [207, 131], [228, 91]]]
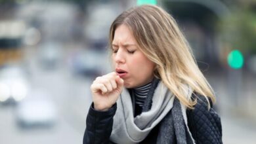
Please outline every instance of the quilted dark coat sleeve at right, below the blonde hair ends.
[[[194, 96], [195, 97], [195, 96]], [[198, 103], [188, 109], [188, 128], [197, 144], [219, 144], [222, 141], [221, 118], [212, 108], [208, 109], [205, 97], [196, 96]], [[211, 101], [210, 101], [211, 102]]]

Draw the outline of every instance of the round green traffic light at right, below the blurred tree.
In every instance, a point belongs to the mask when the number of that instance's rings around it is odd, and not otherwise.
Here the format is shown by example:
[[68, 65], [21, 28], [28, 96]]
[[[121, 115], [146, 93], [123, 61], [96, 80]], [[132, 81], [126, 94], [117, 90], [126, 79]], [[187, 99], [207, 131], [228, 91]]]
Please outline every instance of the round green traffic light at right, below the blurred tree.
[[244, 56], [239, 50], [232, 50], [228, 54], [228, 65], [233, 69], [240, 69], [244, 65]]

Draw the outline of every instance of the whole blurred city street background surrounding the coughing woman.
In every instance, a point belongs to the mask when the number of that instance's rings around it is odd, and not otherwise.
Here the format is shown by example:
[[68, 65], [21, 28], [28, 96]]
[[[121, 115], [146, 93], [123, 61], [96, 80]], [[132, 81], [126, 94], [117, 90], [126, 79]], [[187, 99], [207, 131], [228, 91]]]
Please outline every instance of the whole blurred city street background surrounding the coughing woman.
[[[82, 143], [91, 83], [112, 71], [110, 24], [136, 2], [0, 1], [0, 144]], [[255, 1], [158, 3], [215, 91], [223, 143], [255, 144]]]

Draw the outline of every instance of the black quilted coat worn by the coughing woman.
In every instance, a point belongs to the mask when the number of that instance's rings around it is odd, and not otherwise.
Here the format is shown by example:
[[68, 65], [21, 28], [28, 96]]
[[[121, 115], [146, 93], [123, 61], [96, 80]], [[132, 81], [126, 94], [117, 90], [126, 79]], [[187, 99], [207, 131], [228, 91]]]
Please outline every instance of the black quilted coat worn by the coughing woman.
[[[193, 95], [194, 98], [196, 96]], [[207, 101], [203, 96], [198, 96], [198, 103], [194, 109], [187, 109], [188, 128], [196, 144], [219, 144], [222, 142], [221, 118], [211, 109], [207, 109]], [[113, 126], [113, 117], [116, 113], [115, 104], [108, 111], [96, 111], [93, 104], [89, 109], [86, 120], [86, 129], [83, 137], [83, 144], [94, 143], [112, 143], [110, 135]], [[160, 122], [161, 124], [161, 122]], [[156, 143], [158, 137], [158, 128], [156, 126], [150, 134], [140, 143]]]

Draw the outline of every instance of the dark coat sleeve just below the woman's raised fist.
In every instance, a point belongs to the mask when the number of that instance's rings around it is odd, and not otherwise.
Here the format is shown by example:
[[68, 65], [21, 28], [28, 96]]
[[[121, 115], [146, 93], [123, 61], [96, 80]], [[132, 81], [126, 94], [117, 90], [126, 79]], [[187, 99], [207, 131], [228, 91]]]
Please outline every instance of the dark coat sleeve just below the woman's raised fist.
[[110, 135], [113, 126], [113, 117], [117, 106], [113, 105], [108, 111], [96, 111], [93, 104], [89, 109], [86, 119], [83, 144], [110, 143]]

